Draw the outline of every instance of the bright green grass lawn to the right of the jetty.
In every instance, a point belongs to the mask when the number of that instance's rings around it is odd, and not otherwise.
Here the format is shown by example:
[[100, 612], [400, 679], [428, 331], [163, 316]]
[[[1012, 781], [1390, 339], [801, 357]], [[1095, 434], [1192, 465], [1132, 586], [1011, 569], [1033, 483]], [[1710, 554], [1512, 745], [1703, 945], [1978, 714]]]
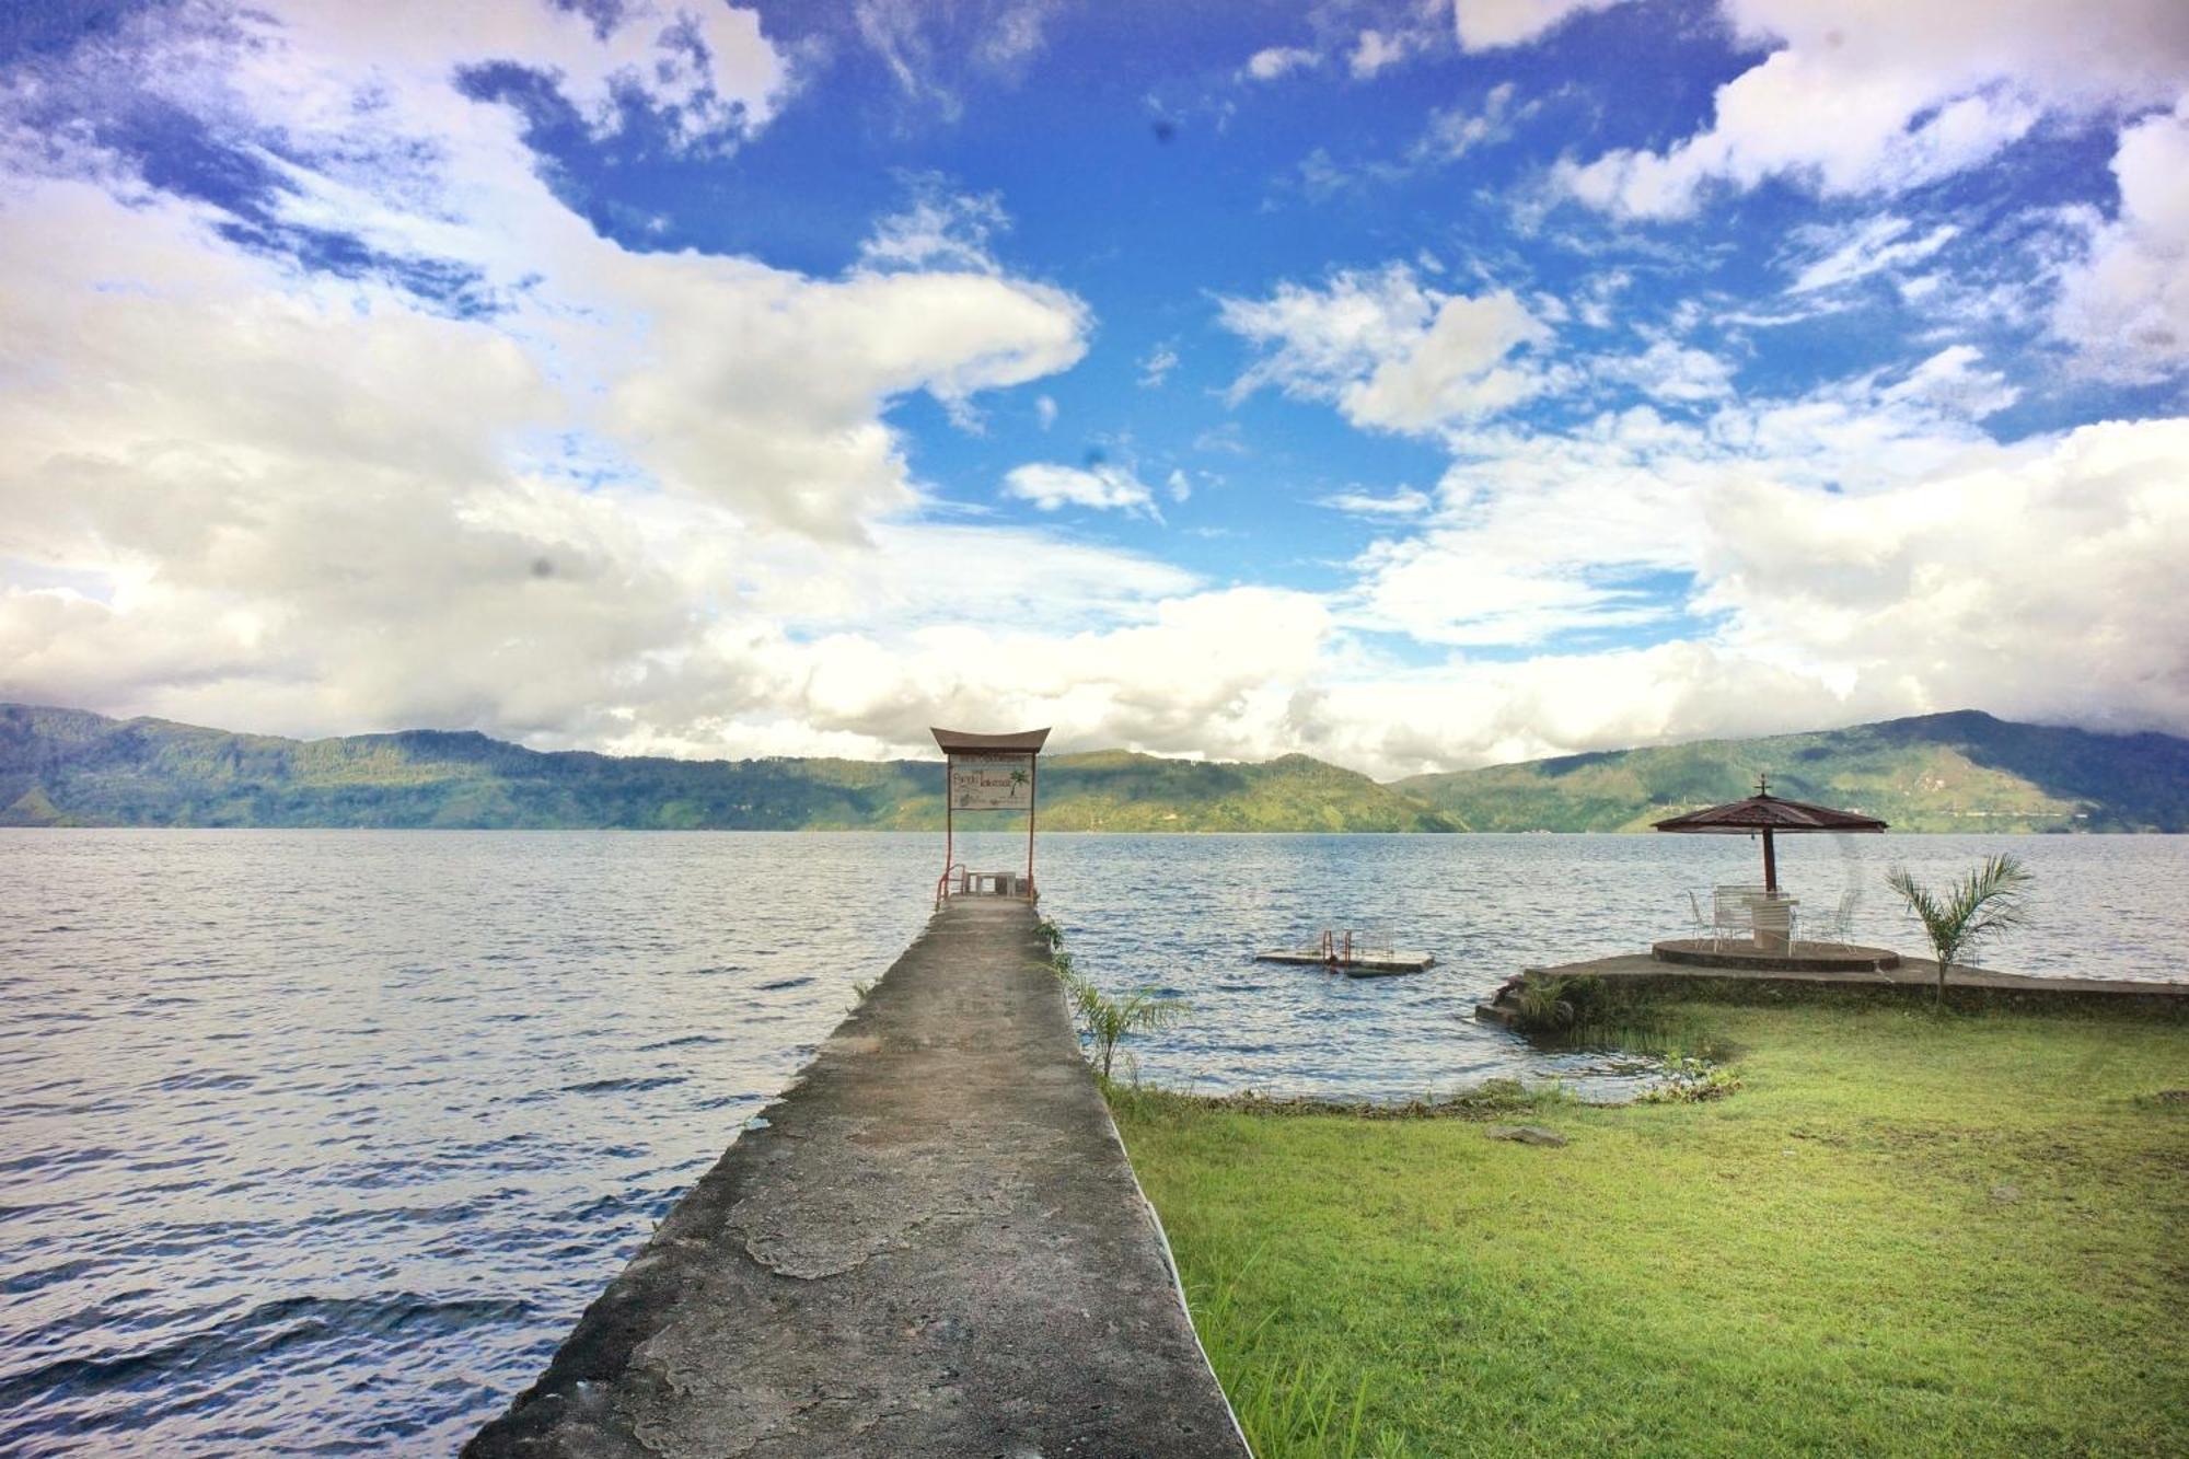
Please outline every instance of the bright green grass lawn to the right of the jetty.
[[1565, 1148], [1116, 1095], [1256, 1452], [2189, 1455], [2189, 1025], [1675, 1012]]

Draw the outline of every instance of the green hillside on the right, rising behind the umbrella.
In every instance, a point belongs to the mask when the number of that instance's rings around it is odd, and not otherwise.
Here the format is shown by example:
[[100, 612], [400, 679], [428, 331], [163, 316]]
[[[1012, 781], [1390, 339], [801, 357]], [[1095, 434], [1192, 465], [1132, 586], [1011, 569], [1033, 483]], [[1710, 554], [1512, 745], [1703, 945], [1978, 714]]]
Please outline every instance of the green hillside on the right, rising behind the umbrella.
[[1974, 710], [1852, 730], [1618, 749], [1394, 782], [1475, 830], [1644, 830], [1756, 789], [1893, 830], [2189, 830], [2189, 740]]

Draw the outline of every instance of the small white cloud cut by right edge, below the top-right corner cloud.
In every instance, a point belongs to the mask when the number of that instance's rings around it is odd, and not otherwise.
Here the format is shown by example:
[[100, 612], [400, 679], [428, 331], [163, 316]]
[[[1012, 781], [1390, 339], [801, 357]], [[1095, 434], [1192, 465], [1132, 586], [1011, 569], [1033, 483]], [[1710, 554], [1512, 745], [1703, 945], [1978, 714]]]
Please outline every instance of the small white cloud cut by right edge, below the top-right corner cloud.
[[2121, 206], [2066, 269], [2053, 329], [2095, 372], [2156, 381], [2189, 366], [2189, 96], [2121, 131]]

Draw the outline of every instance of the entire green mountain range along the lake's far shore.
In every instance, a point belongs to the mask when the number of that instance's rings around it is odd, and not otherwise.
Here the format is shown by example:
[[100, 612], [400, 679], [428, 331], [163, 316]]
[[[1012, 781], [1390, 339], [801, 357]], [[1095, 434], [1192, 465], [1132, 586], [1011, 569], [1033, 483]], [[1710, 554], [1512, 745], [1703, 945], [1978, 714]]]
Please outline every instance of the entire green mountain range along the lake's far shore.
[[[1379, 784], [1309, 756], [1259, 765], [1044, 756], [1044, 830], [1644, 830], [1771, 789], [1896, 830], [2189, 830], [2189, 740], [1974, 710], [1699, 740]], [[668, 760], [534, 751], [473, 732], [324, 740], [0, 705], [0, 826], [928, 830], [933, 760]], [[1009, 813], [968, 826], [1011, 824]]]

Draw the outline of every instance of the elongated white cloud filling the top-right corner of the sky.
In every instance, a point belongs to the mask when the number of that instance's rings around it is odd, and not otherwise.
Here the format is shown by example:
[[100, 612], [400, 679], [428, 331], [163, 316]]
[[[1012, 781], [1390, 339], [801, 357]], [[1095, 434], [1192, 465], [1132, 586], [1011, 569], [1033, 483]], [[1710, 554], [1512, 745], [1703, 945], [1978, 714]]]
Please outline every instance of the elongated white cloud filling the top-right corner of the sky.
[[1880, 195], [1977, 166], [2047, 112], [2171, 103], [2189, 74], [2189, 9], [2121, 0], [1723, 0], [1771, 55], [1718, 88], [1705, 131], [1664, 151], [1561, 162], [1554, 186], [1622, 217], [1686, 217], [1712, 184], [1786, 177]]

